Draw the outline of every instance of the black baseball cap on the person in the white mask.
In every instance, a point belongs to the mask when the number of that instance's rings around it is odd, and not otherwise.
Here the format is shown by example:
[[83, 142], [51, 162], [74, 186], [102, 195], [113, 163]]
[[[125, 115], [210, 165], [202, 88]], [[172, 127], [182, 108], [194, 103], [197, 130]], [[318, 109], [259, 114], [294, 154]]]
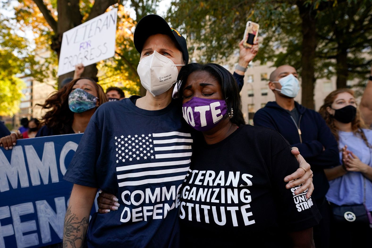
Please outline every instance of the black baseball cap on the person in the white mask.
[[134, 30], [134, 46], [138, 53], [142, 52], [143, 45], [148, 37], [155, 34], [165, 34], [175, 41], [179, 46], [179, 50], [182, 52], [185, 64], [189, 63], [189, 52], [187, 51], [186, 39], [171, 28], [166, 20], [158, 15], [147, 15], [144, 16], [136, 26]]

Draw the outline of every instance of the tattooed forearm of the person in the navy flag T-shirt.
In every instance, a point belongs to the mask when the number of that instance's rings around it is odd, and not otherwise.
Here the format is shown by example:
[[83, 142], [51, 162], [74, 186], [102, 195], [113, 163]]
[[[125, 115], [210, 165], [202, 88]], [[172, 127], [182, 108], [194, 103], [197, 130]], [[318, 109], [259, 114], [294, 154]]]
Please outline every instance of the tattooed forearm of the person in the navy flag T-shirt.
[[78, 220], [76, 214], [71, 213], [71, 206], [67, 209], [65, 215], [65, 225], [63, 230], [63, 248], [73, 247], [81, 248], [84, 244], [84, 238], [88, 228], [88, 219], [84, 217]]

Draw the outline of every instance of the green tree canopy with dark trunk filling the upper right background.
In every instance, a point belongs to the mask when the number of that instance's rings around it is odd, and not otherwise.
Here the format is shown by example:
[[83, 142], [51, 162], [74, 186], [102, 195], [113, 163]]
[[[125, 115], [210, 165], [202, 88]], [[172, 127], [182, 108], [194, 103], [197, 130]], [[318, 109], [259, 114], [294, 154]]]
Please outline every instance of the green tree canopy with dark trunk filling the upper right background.
[[[274, 66], [294, 66], [302, 74], [302, 104], [314, 108], [315, 79], [333, 75], [340, 78], [344, 74], [344, 69], [339, 68], [345, 67], [336, 65], [340, 42], [348, 53], [347, 77], [353, 78], [357, 71], [360, 75], [367, 72], [370, 61], [361, 53], [371, 48], [371, 2], [174, 0], [167, 19], [174, 28], [188, 35], [195, 44], [189, 47], [190, 53], [198, 50], [202, 63], [234, 54], [246, 22], [259, 23], [261, 47], [256, 58], [261, 63], [273, 61]], [[357, 38], [350, 41], [353, 35]]]

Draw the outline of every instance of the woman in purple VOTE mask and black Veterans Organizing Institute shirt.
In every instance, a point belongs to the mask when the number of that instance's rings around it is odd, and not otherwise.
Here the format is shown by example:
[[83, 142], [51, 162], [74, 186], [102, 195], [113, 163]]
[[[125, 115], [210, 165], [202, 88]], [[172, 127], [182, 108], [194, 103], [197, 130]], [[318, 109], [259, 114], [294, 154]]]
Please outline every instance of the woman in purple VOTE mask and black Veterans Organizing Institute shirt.
[[181, 192], [181, 244], [312, 247], [320, 214], [311, 197], [284, 186], [298, 168], [289, 143], [245, 125], [237, 84], [222, 66], [188, 64], [178, 79], [183, 117], [202, 132]]

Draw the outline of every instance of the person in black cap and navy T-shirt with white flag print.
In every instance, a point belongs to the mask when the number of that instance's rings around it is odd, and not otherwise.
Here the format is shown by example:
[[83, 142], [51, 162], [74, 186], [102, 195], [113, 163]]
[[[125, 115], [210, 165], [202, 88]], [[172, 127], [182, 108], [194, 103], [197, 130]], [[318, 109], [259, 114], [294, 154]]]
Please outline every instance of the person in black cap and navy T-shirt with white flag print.
[[[147, 89], [146, 95], [109, 102], [99, 108], [64, 175], [65, 180], [74, 183], [66, 219], [74, 216], [74, 223], [80, 223], [76, 235], [85, 240], [87, 247], [179, 245], [177, 201], [167, 196], [162, 200], [151, 197], [153, 200], [149, 202], [148, 194], [161, 189], [163, 194], [173, 192], [176, 197], [190, 163], [192, 137], [189, 127], [181, 121], [180, 105], [172, 100], [178, 72], [189, 61], [186, 40], [160, 16], [147, 15], [137, 24], [134, 44], [141, 54], [137, 71]], [[170, 146], [154, 152], [153, 144], [157, 142]], [[177, 147], [172, 149], [173, 145]], [[169, 156], [173, 152], [176, 156]], [[161, 167], [166, 165], [169, 166]], [[295, 174], [304, 175], [298, 171]], [[308, 181], [309, 177], [305, 174], [298, 180]], [[288, 181], [294, 178], [294, 175], [287, 177]], [[93, 214], [87, 229], [97, 188], [114, 195], [114, 208], [118, 211], [108, 209], [107, 214]], [[145, 201], [140, 196], [144, 192]], [[158, 210], [149, 214], [151, 207]], [[64, 228], [68, 230], [74, 225], [65, 222]], [[80, 242], [64, 235], [65, 247]]]

